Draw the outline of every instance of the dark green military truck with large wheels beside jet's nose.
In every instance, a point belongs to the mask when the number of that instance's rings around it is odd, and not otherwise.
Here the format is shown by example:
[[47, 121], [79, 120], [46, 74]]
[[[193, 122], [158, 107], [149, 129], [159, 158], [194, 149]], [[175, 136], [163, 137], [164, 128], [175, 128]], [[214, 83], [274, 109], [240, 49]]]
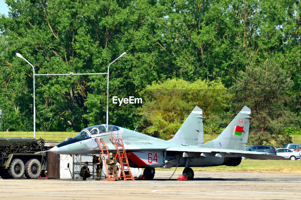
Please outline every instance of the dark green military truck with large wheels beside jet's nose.
[[45, 151], [42, 138], [0, 138], [1, 178], [39, 178], [46, 170], [46, 152], [40, 151]]

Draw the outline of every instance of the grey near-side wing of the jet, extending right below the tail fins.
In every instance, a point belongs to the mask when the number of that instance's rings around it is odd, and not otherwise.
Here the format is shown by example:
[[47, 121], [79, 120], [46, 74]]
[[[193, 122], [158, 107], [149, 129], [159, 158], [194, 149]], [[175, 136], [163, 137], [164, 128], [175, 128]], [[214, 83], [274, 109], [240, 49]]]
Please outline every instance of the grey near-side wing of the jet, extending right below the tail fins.
[[215, 149], [215, 148], [185, 146], [185, 147], [169, 147], [166, 149], [166, 151], [183, 152], [183, 157], [216, 156], [216, 157], [245, 157], [245, 158], [259, 159], [259, 160], [287, 160], [283, 156], [265, 154], [262, 152], [241, 151], [241, 150], [231, 150], [231, 149]]

